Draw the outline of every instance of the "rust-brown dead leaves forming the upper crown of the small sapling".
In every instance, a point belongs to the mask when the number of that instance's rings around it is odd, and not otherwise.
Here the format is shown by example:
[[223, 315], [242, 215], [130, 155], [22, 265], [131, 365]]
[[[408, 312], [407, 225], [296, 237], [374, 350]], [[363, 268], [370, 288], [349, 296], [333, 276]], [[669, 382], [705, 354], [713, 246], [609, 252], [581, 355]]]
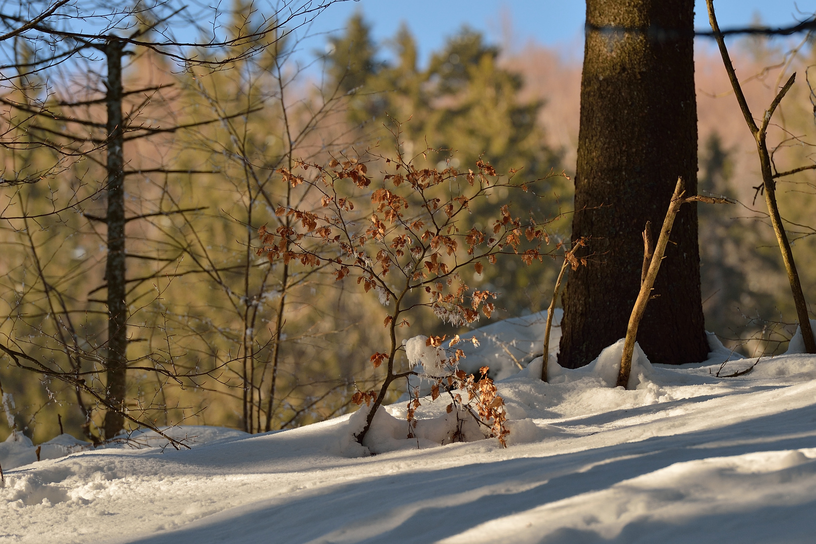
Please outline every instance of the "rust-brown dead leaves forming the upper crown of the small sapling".
[[[468, 287], [460, 279], [460, 268], [472, 264], [481, 274], [487, 265], [497, 263], [497, 254], [516, 254], [528, 266], [552, 254], [544, 247], [550, 243], [548, 222], [536, 223], [532, 216], [522, 221], [508, 205], [499, 208], [492, 235], [476, 226], [463, 228], [468, 214], [461, 212], [468, 212], [475, 199], [487, 197], [486, 189], [521, 188], [500, 183], [486, 161], [477, 161], [477, 170], [467, 173], [454, 168], [418, 169], [410, 162], [390, 159], [386, 165], [392, 171], [382, 173], [380, 186], [362, 194], [358, 189], [373, 182], [366, 163], [355, 158], [332, 158], [327, 166], [296, 161], [292, 171], [278, 170], [282, 181], [292, 187], [308, 184], [317, 189], [320, 206], [317, 210], [278, 207], [275, 214], [286, 222], [272, 232], [266, 227], [259, 230], [262, 245], [257, 253], [266, 254], [270, 261], [294, 259], [307, 267], [335, 263], [331, 271], [335, 281], [355, 274], [366, 293], [376, 289], [386, 303], [400, 290], [424, 288], [431, 295], [424, 306], [453, 325], [472, 323], [494, 312], [488, 299], [495, 294], [474, 291], [470, 303], [465, 303], [463, 290]], [[459, 184], [460, 178], [467, 185]], [[446, 191], [434, 189], [443, 183]], [[359, 210], [359, 215], [349, 217], [352, 210]], [[452, 285], [454, 280], [458, 285]], [[384, 324], [396, 325], [393, 316]]]

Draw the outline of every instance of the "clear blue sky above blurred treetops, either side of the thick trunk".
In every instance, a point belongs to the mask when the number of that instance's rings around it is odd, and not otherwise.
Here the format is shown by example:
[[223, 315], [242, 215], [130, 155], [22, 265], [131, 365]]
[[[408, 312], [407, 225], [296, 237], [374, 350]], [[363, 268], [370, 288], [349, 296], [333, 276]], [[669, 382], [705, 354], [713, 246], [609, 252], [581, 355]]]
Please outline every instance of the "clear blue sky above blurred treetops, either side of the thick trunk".
[[[463, 24], [498, 43], [503, 42], [503, 28], [509, 27], [513, 46], [539, 42], [557, 47], [567, 58], [580, 60], [585, 6], [582, 0], [353, 0], [335, 4], [318, 16], [312, 32], [342, 29], [348, 17], [359, 10], [372, 24], [378, 41], [391, 38], [405, 21], [417, 38], [423, 60]], [[802, 11], [816, 11], [816, 0], [715, 0], [714, 6], [725, 29], [750, 24], [755, 15], [765, 24], [791, 24], [795, 17], [804, 18]], [[696, 1], [695, 12], [696, 26], [707, 29], [704, 0]], [[324, 42], [322, 36], [313, 38], [307, 49]]]

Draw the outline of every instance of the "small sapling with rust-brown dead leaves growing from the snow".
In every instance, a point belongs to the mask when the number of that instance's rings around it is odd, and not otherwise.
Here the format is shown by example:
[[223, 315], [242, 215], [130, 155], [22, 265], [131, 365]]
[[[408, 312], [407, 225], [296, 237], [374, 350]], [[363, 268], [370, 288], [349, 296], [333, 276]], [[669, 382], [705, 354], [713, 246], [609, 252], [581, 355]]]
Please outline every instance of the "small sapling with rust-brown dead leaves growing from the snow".
[[[377, 294], [386, 308], [383, 325], [388, 328], [388, 347], [370, 357], [375, 369], [384, 369], [382, 386], [379, 391], [358, 391], [353, 399], [358, 405], [370, 405], [366, 426], [357, 434], [360, 443], [388, 387], [415, 374], [397, 365], [397, 352], [405, 349], [397, 338], [398, 329], [410, 327], [406, 319], [410, 314], [429, 308], [441, 321], [455, 327], [477, 321], [482, 315], [489, 318], [494, 312], [490, 301], [496, 293], [471, 289], [460, 272], [481, 274], [502, 254], [517, 256], [529, 265], [555, 251], [546, 248], [550, 241], [547, 227], [553, 219], [537, 222], [530, 214], [522, 221], [513, 217], [509, 206], [496, 210], [491, 228], [477, 228], [470, 214], [474, 201], [488, 197], [496, 188], [530, 191], [526, 184], [513, 181], [514, 171], [507, 177], [499, 176], [481, 160], [476, 170], [463, 172], [450, 167], [418, 168], [403, 157], [398, 130], [394, 136], [397, 153], [393, 157], [366, 152], [362, 158], [331, 158], [325, 166], [299, 161], [291, 170], [279, 170], [284, 183], [312, 185], [317, 199], [275, 210], [277, 215], [294, 219], [289, 227], [259, 229], [259, 255], [284, 262], [296, 259], [305, 267], [328, 263], [335, 269], [336, 281], [356, 276], [357, 284], [366, 293]], [[375, 163], [381, 170], [376, 180], [368, 166]], [[563, 174], [551, 172], [543, 179], [557, 175]], [[333, 256], [327, 259], [327, 254]], [[438, 339], [429, 341], [441, 343]], [[502, 401], [486, 378], [486, 370], [476, 378], [456, 367], [461, 356], [461, 352], [454, 352], [446, 363], [451, 372], [440, 375], [437, 386], [448, 391], [459, 405], [468, 405], [476, 398], [475, 413], [493, 429], [490, 434], [503, 442], [507, 430], [503, 427]], [[457, 400], [461, 393], [456, 390], [466, 391], [468, 402]], [[437, 389], [432, 397], [438, 394]], [[410, 406], [415, 410], [419, 398]], [[413, 410], [409, 420], [414, 417]]]

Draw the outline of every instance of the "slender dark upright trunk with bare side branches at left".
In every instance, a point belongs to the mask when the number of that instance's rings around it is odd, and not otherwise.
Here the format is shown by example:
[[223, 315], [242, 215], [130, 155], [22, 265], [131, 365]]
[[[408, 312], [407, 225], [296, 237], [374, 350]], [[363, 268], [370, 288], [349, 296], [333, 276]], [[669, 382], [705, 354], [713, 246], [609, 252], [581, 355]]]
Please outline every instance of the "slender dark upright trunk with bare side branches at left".
[[108, 262], [105, 278], [108, 283], [108, 357], [106, 399], [109, 405], [104, 416], [104, 436], [111, 438], [122, 431], [125, 419], [127, 365], [127, 303], [125, 301], [125, 192], [122, 168], [122, 47], [124, 43], [111, 39], [105, 46], [108, 57]]

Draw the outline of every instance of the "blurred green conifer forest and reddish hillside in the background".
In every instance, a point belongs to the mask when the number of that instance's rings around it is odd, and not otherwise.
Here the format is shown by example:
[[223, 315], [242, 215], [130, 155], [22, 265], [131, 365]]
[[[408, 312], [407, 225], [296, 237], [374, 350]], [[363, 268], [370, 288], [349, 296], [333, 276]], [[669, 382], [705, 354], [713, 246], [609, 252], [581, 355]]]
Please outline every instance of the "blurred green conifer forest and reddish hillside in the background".
[[[237, 6], [233, 28], [253, 24], [258, 15], [251, 4]], [[369, 355], [385, 342], [381, 301], [367, 296], [364, 285], [335, 281], [328, 268], [255, 254], [258, 228], [290, 220], [276, 215], [277, 208], [310, 205], [315, 198], [305, 186], [282, 181], [282, 169], [292, 170], [295, 161], [404, 153], [418, 166], [439, 170], [475, 169], [481, 159], [499, 174], [518, 170], [515, 179], [530, 184], [551, 172], [572, 175], [579, 60], [534, 42], [495, 44], [466, 28], [423, 59], [406, 27], [376, 42], [370, 24], [365, 15], [354, 15], [321, 51], [304, 53], [304, 42], [286, 38], [261, 55], [206, 73], [180, 70], [148, 49], [135, 48], [126, 61], [126, 88], [156, 87], [127, 99], [140, 126], [168, 119], [193, 126], [157, 130], [125, 151], [127, 210], [144, 216], [126, 230], [128, 356], [138, 367], [129, 371], [126, 403], [140, 418], [251, 432], [295, 427], [352, 409], [353, 393], [377, 381]], [[30, 54], [22, 40], [13, 52]], [[741, 38], [732, 54], [751, 104], [768, 104], [783, 75], [796, 70], [805, 76], [816, 64], [807, 38]], [[695, 67], [699, 187], [739, 202], [727, 210], [700, 210], [706, 327], [740, 352], [778, 352], [790, 337], [786, 323], [794, 312], [763, 204], [754, 205], [761, 183], [754, 145], [716, 52], [698, 47]], [[41, 90], [42, 104], [60, 109], [69, 96], [98, 95], [103, 78], [104, 69], [86, 59], [65, 65], [49, 81], [25, 85]], [[769, 131], [771, 141], [783, 144], [779, 171], [812, 162], [807, 135], [814, 133], [814, 95], [805, 80], [789, 93]], [[4, 97], [20, 104], [13, 91]], [[34, 142], [48, 131], [76, 129], [65, 120], [76, 112], [60, 111], [64, 117], [46, 126], [20, 123], [19, 109], [7, 108], [4, 120], [20, 139]], [[83, 113], [104, 122], [104, 112], [93, 106]], [[77, 161], [47, 146], [3, 148], [2, 154], [7, 173], [48, 172], [36, 184], [2, 188], [2, 334], [42, 357], [58, 358], [60, 329], [71, 316], [71, 342], [104, 352], [106, 248], [104, 228], [94, 219], [104, 215], [104, 151], [91, 150]], [[811, 179], [807, 172], [781, 179], [778, 193], [806, 294], [816, 288]], [[568, 240], [570, 182], [549, 178], [533, 194], [495, 188], [474, 207], [472, 222], [487, 228], [491, 213], [507, 204], [522, 215], [556, 218], [549, 226], [553, 241]], [[499, 259], [466, 280], [500, 293], [496, 320], [545, 309], [559, 268], [556, 260], [526, 266]], [[457, 329], [428, 312], [403, 332], [407, 338]], [[8, 363], [0, 367], [7, 420], [0, 439], [12, 427], [35, 443], [60, 428], [100, 437], [104, 407], [65, 383]]]

